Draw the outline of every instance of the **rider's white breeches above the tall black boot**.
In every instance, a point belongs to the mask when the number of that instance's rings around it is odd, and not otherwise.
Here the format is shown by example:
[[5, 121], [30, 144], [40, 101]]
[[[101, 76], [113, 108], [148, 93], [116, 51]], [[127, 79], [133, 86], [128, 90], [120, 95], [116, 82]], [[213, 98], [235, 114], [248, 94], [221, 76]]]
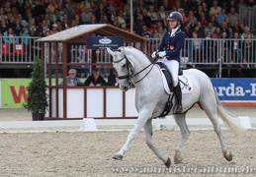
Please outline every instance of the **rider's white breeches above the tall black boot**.
[[163, 57], [158, 60], [158, 62], [164, 63], [172, 74], [173, 86], [178, 85], [178, 74], [179, 74], [179, 62], [176, 60], [167, 60], [166, 57]]

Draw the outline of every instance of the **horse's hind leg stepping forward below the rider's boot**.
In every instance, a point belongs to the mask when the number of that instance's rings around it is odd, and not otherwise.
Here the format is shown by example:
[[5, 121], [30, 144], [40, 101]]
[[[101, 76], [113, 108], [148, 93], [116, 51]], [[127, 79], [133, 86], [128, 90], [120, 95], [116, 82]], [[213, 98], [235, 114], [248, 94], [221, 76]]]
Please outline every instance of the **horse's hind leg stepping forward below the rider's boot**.
[[180, 140], [177, 148], [175, 149], [175, 155], [174, 155], [174, 163], [175, 164], [182, 162], [182, 160], [183, 160], [182, 148], [184, 148], [184, 146], [190, 136], [190, 130], [185, 121], [185, 117], [186, 117], [186, 113], [174, 115], [174, 119], [181, 130], [181, 140]]

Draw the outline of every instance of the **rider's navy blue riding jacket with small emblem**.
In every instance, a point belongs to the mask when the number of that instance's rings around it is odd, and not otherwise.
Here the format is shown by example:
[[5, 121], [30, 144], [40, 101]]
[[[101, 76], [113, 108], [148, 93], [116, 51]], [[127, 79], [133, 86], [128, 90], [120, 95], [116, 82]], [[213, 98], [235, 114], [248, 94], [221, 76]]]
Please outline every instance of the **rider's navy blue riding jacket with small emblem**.
[[157, 51], [166, 51], [168, 60], [176, 60], [180, 62], [180, 52], [185, 40], [185, 32], [177, 29], [175, 34], [170, 37], [171, 30], [165, 32]]

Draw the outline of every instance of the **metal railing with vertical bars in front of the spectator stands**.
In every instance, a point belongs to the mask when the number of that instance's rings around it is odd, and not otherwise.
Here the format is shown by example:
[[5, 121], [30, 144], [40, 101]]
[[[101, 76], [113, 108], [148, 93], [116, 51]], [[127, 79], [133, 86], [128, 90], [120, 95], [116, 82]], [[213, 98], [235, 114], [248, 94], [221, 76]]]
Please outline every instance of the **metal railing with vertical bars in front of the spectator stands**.
[[[22, 37], [17, 37], [17, 43], [5, 43], [3, 36], [0, 37], [0, 64], [33, 64], [35, 56], [41, 56], [41, 43], [37, 42], [37, 37], [30, 37], [24, 41]], [[143, 52], [150, 57], [151, 53], [159, 46], [159, 38], [150, 38], [150, 42], [145, 43]], [[125, 43], [124, 45], [128, 45]], [[134, 47], [139, 48], [139, 43], [134, 43]], [[236, 48], [235, 48], [236, 46]], [[45, 43], [47, 47], [47, 43]], [[47, 66], [47, 56], [51, 55], [52, 62], [54, 63], [55, 46], [52, 45], [51, 50], [45, 49], [44, 60], [45, 66]], [[58, 43], [58, 56], [59, 63], [62, 65], [62, 44]], [[92, 50], [87, 49], [86, 45], [72, 45], [71, 46], [71, 63], [91, 63]], [[256, 66], [256, 39], [206, 39], [206, 38], [186, 38], [184, 47], [181, 51], [182, 67], [186, 67], [186, 64], [197, 67], [216, 67], [221, 69], [222, 67], [239, 67], [244, 65], [245, 67]], [[107, 50], [99, 49], [96, 51], [97, 63], [112, 63], [112, 59]], [[89, 68], [89, 67], [88, 67]], [[90, 73], [88, 71], [87, 73]], [[105, 73], [103, 71], [103, 73]], [[106, 72], [108, 73], [108, 72]], [[45, 69], [46, 74], [46, 69]]]

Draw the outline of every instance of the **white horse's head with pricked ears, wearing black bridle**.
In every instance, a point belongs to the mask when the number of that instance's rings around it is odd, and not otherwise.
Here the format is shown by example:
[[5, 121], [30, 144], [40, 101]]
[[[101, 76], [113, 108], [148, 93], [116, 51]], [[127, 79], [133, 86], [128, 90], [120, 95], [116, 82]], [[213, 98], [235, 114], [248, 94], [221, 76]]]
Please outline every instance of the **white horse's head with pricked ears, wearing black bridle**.
[[125, 47], [120, 47], [117, 51], [112, 51], [107, 47], [108, 52], [113, 56], [113, 66], [119, 73], [120, 89], [127, 91], [130, 89], [132, 78], [132, 65], [128, 61]]

